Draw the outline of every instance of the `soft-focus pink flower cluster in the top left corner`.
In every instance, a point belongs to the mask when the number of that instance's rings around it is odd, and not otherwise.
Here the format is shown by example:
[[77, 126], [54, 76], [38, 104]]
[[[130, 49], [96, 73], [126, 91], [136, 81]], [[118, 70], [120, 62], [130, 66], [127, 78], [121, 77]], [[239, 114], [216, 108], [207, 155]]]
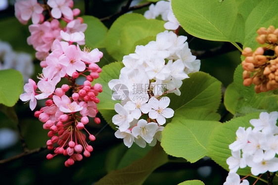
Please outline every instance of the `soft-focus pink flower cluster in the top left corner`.
[[[51, 46], [55, 39], [59, 41], [63, 39], [60, 36], [61, 30], [72, 34], [83, 33], [87, 29], [87, 24], [83, 24], [81, 17], [74, 19], [74, 16], [80, 14], [80, 10], [78, 8], [71, 9], [73, 0], [47, 0], [46, 4], [40, 4], [37, 0], [18, 0], [14, 7], [15, 16], [22, 24], [27, 24], [32, 18], [33, 24], [29, 26], [31, 36], [28, 37], [27, 42], [29, 45], [33, 45], [37, 51], [36, 57], [39, 60], [45, 60], [49, 51], [53, 50]], [[62, 29], [57, 19], [65, 21], [67, 26]], [[84, 45], [84, 38], [78, 41], [78, 44]]]

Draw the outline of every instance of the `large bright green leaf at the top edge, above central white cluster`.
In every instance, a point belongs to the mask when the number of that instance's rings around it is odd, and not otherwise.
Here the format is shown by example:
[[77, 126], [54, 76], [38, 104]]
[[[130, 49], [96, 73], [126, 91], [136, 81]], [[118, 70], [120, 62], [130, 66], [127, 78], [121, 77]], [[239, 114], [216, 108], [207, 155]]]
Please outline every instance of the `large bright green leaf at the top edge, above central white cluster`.
[[234, 46], [244, 41], [243, 18], [235, 0], [172, 0], [172, 9], [185, 31], [195, 37]]

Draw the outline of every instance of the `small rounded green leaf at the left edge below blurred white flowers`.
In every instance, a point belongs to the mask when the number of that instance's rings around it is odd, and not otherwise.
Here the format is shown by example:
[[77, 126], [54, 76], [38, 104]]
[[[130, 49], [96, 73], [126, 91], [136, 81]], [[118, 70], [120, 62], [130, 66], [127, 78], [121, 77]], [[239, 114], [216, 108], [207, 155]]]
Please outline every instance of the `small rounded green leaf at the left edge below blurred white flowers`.
[[14, 69], [0, 70], [0, 103], [12, 107], [23, 90], [23, 77]]

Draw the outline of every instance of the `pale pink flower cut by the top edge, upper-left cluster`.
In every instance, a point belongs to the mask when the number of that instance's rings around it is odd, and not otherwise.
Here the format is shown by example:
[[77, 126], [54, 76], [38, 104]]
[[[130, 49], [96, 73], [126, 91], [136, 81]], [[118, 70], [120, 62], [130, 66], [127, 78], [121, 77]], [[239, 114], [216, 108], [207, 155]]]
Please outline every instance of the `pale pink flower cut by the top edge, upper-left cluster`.
[[47, 4], [52, 8], [51, 15], [55, 19], [61, 18], [62, 14], [66, 19], [73, 20], [73, 12], [69, 7], [72, 0], [48, 0]]

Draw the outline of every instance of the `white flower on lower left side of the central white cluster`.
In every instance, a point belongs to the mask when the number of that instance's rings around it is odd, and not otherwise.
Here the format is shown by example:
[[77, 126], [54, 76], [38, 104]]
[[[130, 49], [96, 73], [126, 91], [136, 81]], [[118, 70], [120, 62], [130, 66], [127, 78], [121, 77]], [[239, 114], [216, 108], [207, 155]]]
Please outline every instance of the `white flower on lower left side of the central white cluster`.
[[129, 111], [120, 103], [115, 104], [115, 111], [118, 113], [112, 117], [112, 122], [119, 126], [121, 132], [125, 132], [130, 127], [133, 117]]

